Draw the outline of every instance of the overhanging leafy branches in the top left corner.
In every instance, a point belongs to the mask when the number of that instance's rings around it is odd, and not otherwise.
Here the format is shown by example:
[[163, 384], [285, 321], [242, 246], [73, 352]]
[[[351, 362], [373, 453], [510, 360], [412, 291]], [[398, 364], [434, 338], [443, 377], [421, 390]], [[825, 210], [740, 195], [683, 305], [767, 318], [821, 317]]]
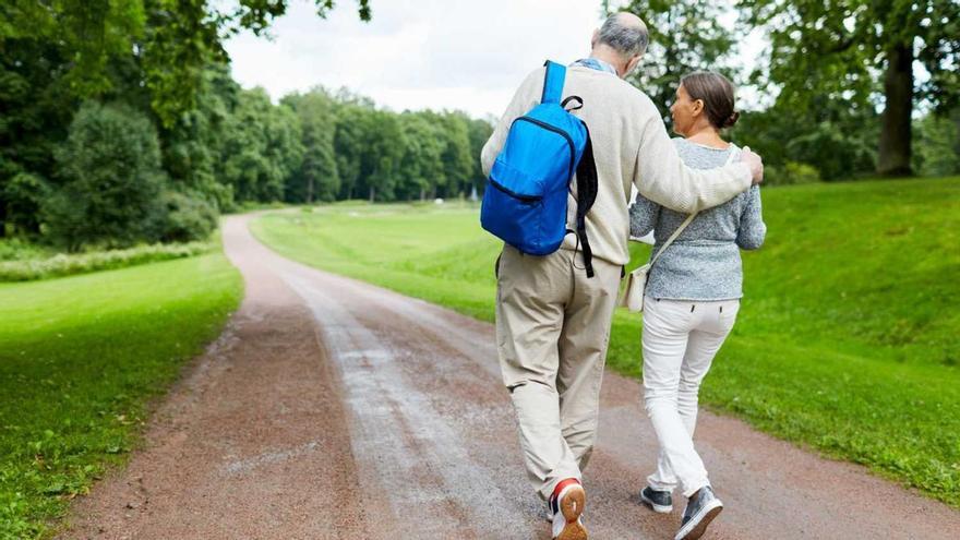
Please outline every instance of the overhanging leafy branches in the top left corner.
[[[266, 33], [287, 11], [287, 0], [12, 0], [0, 5], [0, 41], [36, 39], [56, 45], [71, 61], [65, 80], [75, 96], [100, 97], [110, 89], [111, 60], [135, 56], [165, 127], [194, 108], [202, 73], [211, 61], [229, 62], [223, 41], [247, 28]], [[334, 0], [315, 0], [325, 17]], [[369, 0], [358, 0], [369, 21]]]

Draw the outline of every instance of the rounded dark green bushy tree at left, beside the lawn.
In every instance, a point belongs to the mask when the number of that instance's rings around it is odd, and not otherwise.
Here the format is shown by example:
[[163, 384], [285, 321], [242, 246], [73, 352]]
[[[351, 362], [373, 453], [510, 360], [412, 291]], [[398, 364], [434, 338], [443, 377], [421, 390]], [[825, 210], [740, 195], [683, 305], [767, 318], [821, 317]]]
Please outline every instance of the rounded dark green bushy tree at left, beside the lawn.
[[147, 118], [125, 106], [88, 101], [56, 157], [63, 183], [43, 206], [55, 243], [76, 251], [156, 240], [152, 226], [165, 181]]

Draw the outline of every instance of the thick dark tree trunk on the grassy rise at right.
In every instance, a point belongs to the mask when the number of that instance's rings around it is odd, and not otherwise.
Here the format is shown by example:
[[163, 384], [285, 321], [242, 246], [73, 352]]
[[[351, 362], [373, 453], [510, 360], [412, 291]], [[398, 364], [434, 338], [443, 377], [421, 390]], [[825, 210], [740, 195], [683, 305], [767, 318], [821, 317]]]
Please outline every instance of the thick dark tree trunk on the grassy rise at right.
[[877, 172], [889, 177], [910, 176], [913, 115], [913, 47], [910, 44], [897, 45], [889, 51], [884, 95]]

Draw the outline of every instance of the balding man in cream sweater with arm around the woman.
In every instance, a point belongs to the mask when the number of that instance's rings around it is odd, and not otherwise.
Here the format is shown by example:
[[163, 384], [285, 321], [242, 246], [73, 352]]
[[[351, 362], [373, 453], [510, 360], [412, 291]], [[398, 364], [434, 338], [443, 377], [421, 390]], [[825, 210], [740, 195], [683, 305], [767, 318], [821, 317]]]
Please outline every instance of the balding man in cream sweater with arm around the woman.
[[[763, 176], [759, 156], [748, 149], [742, 161], [721, 169], [695, 171], [683, 165], [657, 107], [623, 81], [647, 43], [639, 17], [612, 15], [593, 33], [590, 57], [567, 70], [564, 96], [583, 98], [576, 115], [590, 130], [597, 164], [597, 200], [586, 227], [595, 276], [584, 272], [575, 235], [545, 256], [504, 245], [496, 263], [503, 380], [517, 413], [529, 480], [548, 501], [553, 538], [561, 540], [587, 538], [580, 478], [596, 441], [610, 324], [622, 269], [629, 261], [631, 184], [651, 201], [693, 213], [732, 199]], [[513, 121], [539, 104], [543, 80], [544, 70], [538, 69], [517, 89], [483, 147], [484, 173], [490, 173]], [[575, 218], [576, 201], [571, 193], [568, 223]]]

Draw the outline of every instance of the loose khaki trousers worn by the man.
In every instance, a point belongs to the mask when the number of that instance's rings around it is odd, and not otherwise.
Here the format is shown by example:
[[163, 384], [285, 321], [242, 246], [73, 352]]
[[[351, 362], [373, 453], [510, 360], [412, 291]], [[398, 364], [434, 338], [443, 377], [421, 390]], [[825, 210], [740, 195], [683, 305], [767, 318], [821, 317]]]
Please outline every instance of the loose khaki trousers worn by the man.
[[621, 266], [579, 252], [525, 255], [506, 245], [497, 262], [496, 343], [519, 424], [527, 476], [544, 500], [580, 479], [597, 439], [600, 383]]

